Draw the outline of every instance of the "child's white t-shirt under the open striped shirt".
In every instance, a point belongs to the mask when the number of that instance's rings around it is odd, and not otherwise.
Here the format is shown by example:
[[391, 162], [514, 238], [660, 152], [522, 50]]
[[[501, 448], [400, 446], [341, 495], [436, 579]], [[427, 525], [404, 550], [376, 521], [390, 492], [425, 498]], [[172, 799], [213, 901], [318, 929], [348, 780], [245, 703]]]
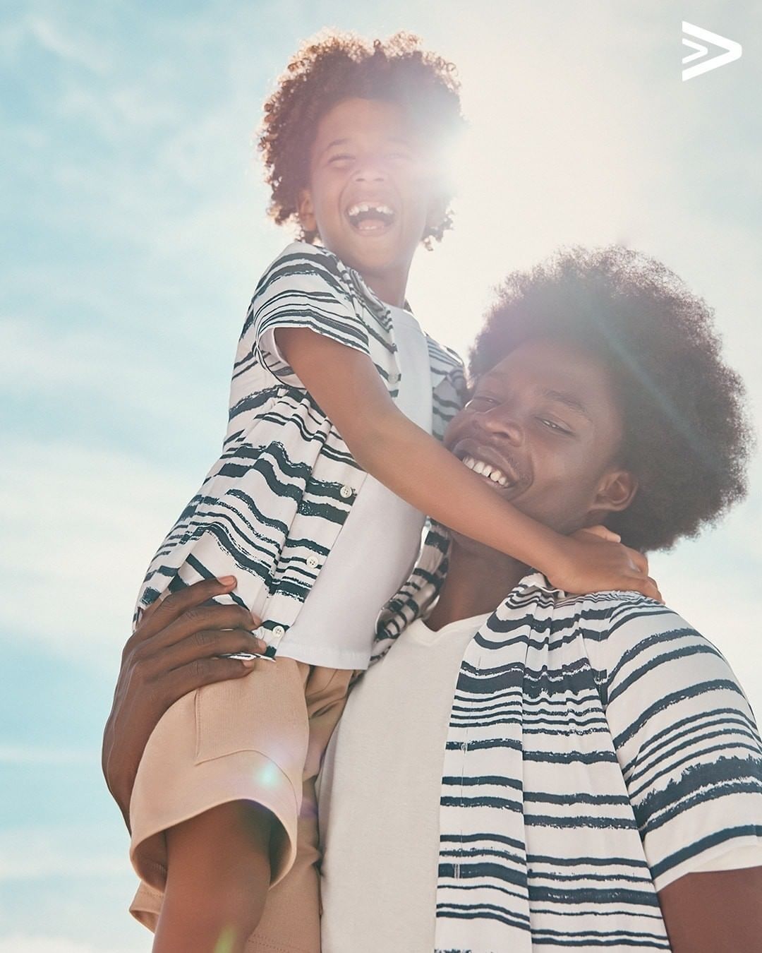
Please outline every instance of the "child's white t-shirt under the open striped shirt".
[[[401, 375], [395, 403], [431, 434], [426, 335], [410, 312], [391, 306], [390, 311]], [[330, 668], [367, 668], [375, 620], [410, 576], [424, 518], [377, 479], [366, 476], [278, 655]]]

